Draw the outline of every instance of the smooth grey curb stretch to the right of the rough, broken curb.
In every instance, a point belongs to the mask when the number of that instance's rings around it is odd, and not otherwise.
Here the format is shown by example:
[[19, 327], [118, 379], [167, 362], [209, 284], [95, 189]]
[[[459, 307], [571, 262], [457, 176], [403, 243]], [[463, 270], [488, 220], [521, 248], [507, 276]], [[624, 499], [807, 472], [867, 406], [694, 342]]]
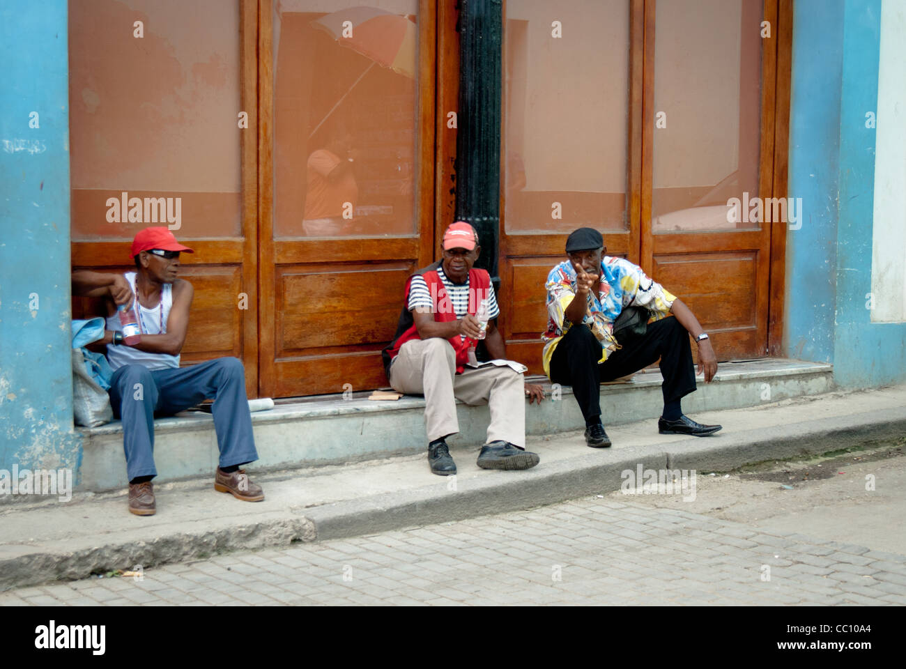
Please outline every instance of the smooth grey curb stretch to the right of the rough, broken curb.
[[458, 486], [456, 494], [440, 484], [327, 504], [306, 516], [313, 520], [317, 540], [326, 540], [531, 509], [620, 490], [621, 472], [639, 464], [655, 470], [728, 471], [891, 440], [906, 434], [906, 408], [784, 426], [788, 433], [779, 440], [769, 434], [776, 430], [744, 432], [727, 443], [705, 437], [590, 452], [522, 472], [518, 479], [512, 472], [496, 472], [468, 481], [468, 488]]

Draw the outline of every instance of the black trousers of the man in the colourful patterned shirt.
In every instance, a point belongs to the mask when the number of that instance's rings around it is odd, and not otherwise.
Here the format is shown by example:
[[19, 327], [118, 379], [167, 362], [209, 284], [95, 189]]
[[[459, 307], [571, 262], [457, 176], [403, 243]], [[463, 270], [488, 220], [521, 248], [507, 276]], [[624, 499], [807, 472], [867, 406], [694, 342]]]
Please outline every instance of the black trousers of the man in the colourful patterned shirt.
[[638, 372], [660, 357], [664, 403], [695, 391], [695, 365], [689, 332], [674, 316], [648, 324], [644, 336], [601, 360], [601, 343], [587, 325], [573, 325], [560, 340], [551, 358], [551, 381], [573, 386], [573, 394], [587, 421], [601, 415], [603, 381]]

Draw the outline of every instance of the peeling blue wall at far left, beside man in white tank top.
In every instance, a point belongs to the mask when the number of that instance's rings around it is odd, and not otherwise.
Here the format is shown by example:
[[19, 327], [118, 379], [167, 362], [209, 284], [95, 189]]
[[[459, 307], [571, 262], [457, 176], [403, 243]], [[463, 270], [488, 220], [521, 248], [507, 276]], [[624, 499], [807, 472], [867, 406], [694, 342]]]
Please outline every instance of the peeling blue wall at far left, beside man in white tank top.
[[[72, 430], [66, 16], [66, 0], [0, 4], [0, 468], [6, 470], [74, 469], [81, 460]], [[29, 128], [33, 111], [39, 128]]]

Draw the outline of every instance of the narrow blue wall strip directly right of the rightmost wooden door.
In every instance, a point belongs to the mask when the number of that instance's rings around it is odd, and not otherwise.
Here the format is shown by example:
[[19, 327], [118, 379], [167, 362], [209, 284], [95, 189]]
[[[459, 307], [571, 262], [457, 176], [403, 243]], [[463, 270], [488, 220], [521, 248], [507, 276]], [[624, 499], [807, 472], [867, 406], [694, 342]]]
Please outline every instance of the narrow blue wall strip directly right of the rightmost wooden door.
[[788, 194], [802, 228], [786, 231], [786, 354], [834, 359], [843, 0], [796, 0]]

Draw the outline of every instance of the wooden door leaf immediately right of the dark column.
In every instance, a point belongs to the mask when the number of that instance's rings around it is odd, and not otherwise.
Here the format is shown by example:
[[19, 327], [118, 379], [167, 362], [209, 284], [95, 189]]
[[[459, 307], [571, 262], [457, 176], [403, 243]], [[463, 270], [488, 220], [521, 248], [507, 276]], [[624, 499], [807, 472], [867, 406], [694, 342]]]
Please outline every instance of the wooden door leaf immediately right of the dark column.
[[602, 230], [609, 255], [639, 262], [642, 29], [641, 0], [506, 2], [501, 327], [531, 373], [569, 232]]

